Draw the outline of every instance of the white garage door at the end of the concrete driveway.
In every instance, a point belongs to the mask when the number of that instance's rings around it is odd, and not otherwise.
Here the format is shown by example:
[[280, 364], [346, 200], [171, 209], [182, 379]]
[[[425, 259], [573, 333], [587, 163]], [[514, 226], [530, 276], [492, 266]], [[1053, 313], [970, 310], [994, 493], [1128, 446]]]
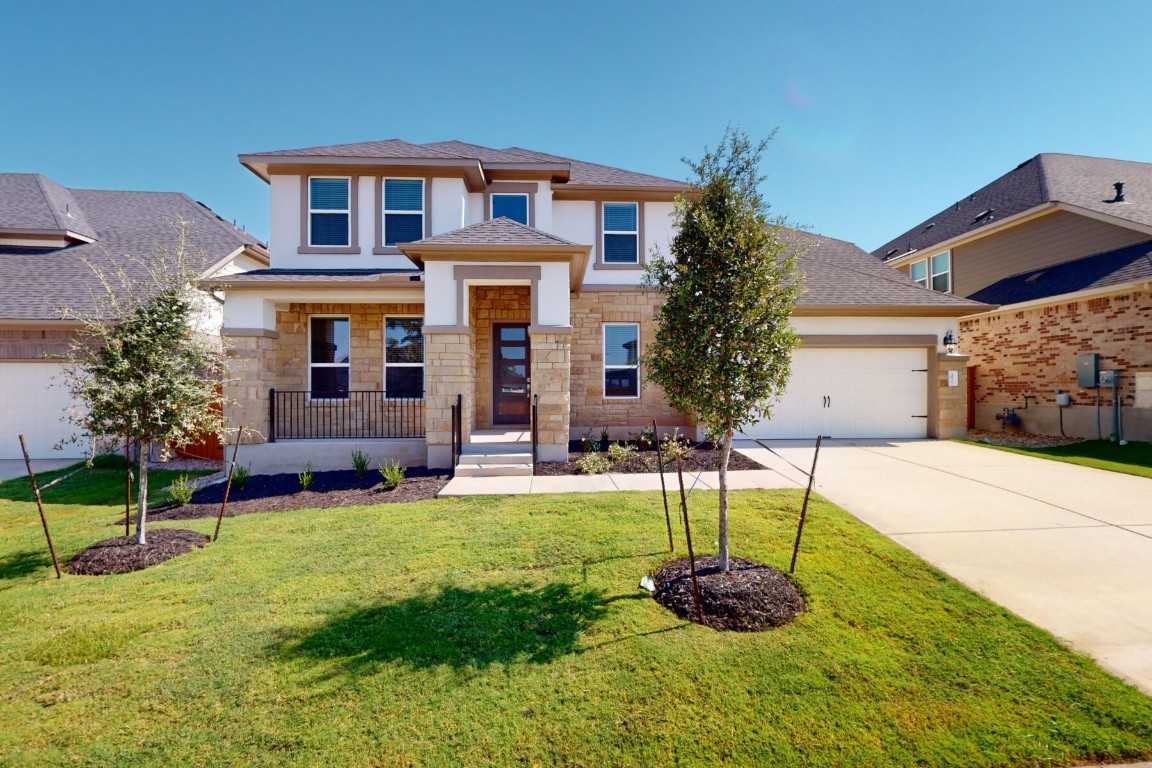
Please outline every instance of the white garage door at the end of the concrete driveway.
[[799, 349], [772, 418], [750, 438], [926, 438], [927, 350]]

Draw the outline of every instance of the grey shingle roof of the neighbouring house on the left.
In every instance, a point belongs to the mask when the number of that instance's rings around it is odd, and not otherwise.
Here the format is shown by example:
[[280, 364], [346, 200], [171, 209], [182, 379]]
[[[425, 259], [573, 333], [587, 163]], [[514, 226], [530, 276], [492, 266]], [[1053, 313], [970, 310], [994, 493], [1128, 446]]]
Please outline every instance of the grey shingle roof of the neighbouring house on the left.
[[0, 320], [60, 320], [65, 309], [91, 312], [103, 288], [85, 260], [106, 272], [131, 272], [138, 267], [124, 254], [146, 258], [173, 248], [180, 220], [190, 222], [191, 246], [203, 252], [205, 269], [245, 248], [265, 254], [252, 235], [180, 192], [67, 189], [35, 174], [0, 174], [0, 237], [15, 229], [58, 231], [61, 211], [79, 222], [73, 231], [92, 242], [0, 246]]

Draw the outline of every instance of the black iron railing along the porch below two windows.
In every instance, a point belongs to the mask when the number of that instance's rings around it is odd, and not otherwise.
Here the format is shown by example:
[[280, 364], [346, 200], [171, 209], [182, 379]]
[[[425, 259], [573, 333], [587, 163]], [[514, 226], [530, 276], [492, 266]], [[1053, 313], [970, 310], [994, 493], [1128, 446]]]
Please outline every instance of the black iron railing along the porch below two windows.
[[268, 442], [423, 436], [423, 397], [385, 397], [379, 390], [339, 397], [268, 390]]

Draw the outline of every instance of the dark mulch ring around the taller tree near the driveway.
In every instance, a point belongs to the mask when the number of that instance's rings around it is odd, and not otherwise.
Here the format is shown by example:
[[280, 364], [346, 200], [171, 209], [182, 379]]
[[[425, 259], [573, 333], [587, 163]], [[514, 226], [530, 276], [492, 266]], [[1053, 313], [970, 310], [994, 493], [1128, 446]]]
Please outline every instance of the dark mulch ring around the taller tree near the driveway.
[[[756, 632], [783, 626], [803, 613], [804, 598], [787, 576], [771, 565], [729, 557], [729, 571], [723, 573], [715, 555], [696, 558], [705, 626]], [[688, 560], [665, 563], [652, 580], [657, 602], [681, 618], [699, 623]]]

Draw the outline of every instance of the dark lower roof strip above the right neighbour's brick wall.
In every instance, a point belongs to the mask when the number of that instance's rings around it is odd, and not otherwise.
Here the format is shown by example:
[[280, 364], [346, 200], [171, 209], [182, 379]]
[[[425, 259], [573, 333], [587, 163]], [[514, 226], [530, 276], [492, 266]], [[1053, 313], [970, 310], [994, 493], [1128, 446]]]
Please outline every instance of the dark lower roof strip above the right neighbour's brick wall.
[[1152, 280], [1152, 239], [1005, 277], [972, 298], [988, 304], [1016, 304], [1049, 296]]

